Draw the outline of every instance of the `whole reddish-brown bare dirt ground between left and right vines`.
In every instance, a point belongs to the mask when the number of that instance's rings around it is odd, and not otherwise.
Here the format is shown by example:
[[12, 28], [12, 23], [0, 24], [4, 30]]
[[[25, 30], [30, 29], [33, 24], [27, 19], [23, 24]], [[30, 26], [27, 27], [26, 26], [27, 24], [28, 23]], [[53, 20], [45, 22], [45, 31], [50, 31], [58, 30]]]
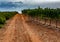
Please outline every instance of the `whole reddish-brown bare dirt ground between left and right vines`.
[[26, 21], [26, 16], [16, 14], [0, 33], [0, 42], [60, 42], [60, 32]]

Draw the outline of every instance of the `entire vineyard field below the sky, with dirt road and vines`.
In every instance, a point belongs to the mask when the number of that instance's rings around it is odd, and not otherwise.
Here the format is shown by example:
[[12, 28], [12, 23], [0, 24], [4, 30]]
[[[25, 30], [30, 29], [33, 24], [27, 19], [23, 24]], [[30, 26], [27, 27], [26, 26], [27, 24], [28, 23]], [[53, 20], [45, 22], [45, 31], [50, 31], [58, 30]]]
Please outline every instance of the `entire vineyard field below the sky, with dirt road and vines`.
[[0, 12], [0, 42], [60, 42], [60, 9]]

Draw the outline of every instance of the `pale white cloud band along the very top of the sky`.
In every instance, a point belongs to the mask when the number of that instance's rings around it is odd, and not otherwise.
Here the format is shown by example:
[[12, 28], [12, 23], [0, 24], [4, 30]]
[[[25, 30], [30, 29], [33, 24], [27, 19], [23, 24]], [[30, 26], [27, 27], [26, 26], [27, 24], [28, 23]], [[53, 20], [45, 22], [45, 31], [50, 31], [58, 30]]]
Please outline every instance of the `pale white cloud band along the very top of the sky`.
[[41, 3], [53, 3], [53, 2], [60, 2], [60, 0], [0, 0], [1, 1], [11, 1], [11, 2], [19, 2], [22, 1], [24, 4], [41, 4]]

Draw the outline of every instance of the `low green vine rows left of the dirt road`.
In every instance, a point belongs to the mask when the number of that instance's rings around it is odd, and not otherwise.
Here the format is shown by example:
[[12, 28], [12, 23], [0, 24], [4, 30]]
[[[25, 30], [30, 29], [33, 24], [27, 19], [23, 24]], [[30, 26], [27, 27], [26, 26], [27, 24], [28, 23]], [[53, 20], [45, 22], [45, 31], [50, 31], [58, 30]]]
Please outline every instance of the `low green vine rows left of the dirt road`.
[[0, 28], [3, 27], [3, 25], [6, 23], [6, 20], [9, 20], [16, 14], [17, 12], [0, 12]]

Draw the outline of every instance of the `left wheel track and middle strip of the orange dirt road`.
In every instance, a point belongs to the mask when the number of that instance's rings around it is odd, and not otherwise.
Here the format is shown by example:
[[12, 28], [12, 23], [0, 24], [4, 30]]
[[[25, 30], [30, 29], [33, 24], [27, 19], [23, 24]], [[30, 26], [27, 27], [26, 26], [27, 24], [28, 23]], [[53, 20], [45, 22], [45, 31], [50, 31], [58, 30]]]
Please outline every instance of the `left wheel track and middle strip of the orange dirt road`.
[[7, 30], [1, 42], [31, 42], [28, 33], [23, 27], [20, 15], [17, 14], [14, 16], [13, 20], [6, 28]]

